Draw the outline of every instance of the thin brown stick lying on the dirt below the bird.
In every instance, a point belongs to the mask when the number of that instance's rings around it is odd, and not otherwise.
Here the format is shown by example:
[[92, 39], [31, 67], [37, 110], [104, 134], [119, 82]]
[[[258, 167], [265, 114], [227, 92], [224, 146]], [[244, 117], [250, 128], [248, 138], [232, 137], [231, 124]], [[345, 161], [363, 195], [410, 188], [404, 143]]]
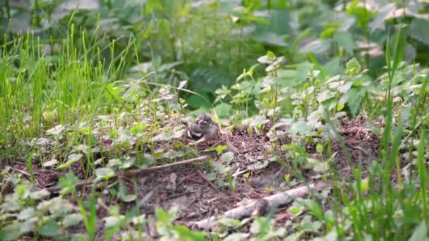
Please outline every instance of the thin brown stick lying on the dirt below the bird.
[[[171, 168], [174, 166], [181, 166], [181, 165], [187, 165], [187, 164], [191, 164], [191, 163], [195, 163], [195, 162], [202, 162], [202, 161], [207, 160], [207, 158], [208, 158], [208, 156], [200, 156], [200, 157], [196, 157], [193, 159], [188, 159], [188, 160], [184, 160], [184, 161], [177, 161], [174, 163], [169, 163], [169, 164], [165, 164], [165, 165], [161, 165], [161, 166], [154, 166], [154, 167], [150, 167], [150, 168], [136, 169], [136, 170], [128, 170], [128, 171], [125, 171], [124, 173], [116, 173], [116, 175], [109, 178], [108, 180], [117, 179], [117, 178], [121, 178], [121, 177], [131, 177], [134, 175], [141, 175], [144, 173], [150, 173], [152, 171], [159, 171], [159, 170]], [[103, 181], [103, 180], [101, 180], [101, 181]], [[79, 189], [80, 187], [83, 187], [86, 185], [93, 185], [93, 184], [97, 183], [98, 181], [99, 180], [86, 180], [86, 181], [83, 181], [80, 183], [76, 183], [74, 185], [74, 187], [76, 189]], [[47, 188], [47, 190], [49, 192], [59, 192], [61, 189], [62, 189], [62, 187], [49, 187], [49, 188]]]

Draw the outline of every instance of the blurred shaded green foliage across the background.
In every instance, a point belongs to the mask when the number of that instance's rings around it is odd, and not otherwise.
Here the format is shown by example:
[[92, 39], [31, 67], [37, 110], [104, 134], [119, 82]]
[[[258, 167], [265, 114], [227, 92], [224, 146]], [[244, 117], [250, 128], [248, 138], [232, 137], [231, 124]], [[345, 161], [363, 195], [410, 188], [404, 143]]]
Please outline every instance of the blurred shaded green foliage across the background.
[[[341, 73], [344, 61], [354, 56], [375, 78], [385, 66], [387, 32], [394, 32], [397, 23], [410, 25], [406, 60], [423, 66], [429, 60], [429, 8], [419, 0], [1, 0], [0, 6], [2, 32], [13, 37], [32, 31], [47, 45], [43, 51], [52, 61], [59, 54], [56, 44], [69, 31], [75, 44], [83, 45], [85, 30], [99, 48], [92, 49], [94, 58], [100, 51], [109, 63], [126, 51], [116, 79], [155, 71], [156, 82], [190, 80], [188, 87], [210, 100], [216, 89], [232, 85], [267, 50], [285, 56], [290, 66], [311, 61], [310, 53], [329, 75]], [[109, 49], [112, 39], [114, 53]], [[131, 39], [136, 40], [133, 51], [126, 49]], [[258, 73], [261, 68], [255, 69]], [[205, 103], [195, 95], [183, 97], [193, 109]]]

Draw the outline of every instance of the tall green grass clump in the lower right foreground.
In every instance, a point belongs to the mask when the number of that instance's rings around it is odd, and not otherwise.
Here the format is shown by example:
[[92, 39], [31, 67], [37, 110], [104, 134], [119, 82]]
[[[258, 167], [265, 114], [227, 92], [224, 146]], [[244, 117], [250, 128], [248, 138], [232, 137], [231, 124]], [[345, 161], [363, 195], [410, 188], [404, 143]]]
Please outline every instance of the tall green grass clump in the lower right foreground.
[[[405, 126], [409, 123], [409, 115], [413, 111], [418, 113], [417, 108], [423, 106], [425, 98], [419, 97], [416, 105], [406, 107], [400, 114], [394, 116], [392, 82], [399, 63], [404, 58], [405, 47], [406, 28], [399, 27], [394, 47], [389, 44], [386, 47], [385, 125], [379, 159], [366, 166], [366, 173], [363, 173], [362, 166], [357, 164], [353, 172], [354, 183], [346, 184], [348, 188], [334, 187], [334, 196], [337, 200], [334, 203], [344, 204], [342, 209], [335, 211], [337, 219], [334, 219], [334, 232], [338, 235], [349, 236], [352, 233], [358, 240], [368, 237], [372, 237], [373, 240], [407, 240], [410, 237], [426, 235], [426, 229], [422, 228], [428, 220], [426, 189], [428, 180], [423, 158], [427, 119], [425, 114], [421, 115], [421, 122], [413, 123], [410, 128], [413, 131], [409, 132], [409, 135], [419, 137], [417, 171], [406, 178], [400, 155], [404, 134], [407, 133]], [[425, 92], [425, 85], [422, 85], [420, 92]], [[364, 176], [366, 177], [363, 178]], [[332, 220], [327, 220], [328, 222]], [[351, 233], [347, 231], [348, 227], [351, 228]]]

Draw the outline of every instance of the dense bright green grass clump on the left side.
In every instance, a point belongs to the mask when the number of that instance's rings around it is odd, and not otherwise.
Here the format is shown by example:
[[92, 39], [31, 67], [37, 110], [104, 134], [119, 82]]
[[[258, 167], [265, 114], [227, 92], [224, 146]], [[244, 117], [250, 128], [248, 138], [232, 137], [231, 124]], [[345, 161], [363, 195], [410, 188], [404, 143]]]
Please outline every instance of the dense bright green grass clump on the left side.
[[105, 38], [97, 39], [97, 30], [92, 36], [73, 24], [56, 42], [30, 33], [13, 39], [5, 35], [0, 49], [0, 159], [25, 156], [20, 151], [44, 131], [87, 121], [116, 106], [106, 88], [123, 76], [123, 56], [135, 39], [116, 55], [114, 40], [99, 46]]

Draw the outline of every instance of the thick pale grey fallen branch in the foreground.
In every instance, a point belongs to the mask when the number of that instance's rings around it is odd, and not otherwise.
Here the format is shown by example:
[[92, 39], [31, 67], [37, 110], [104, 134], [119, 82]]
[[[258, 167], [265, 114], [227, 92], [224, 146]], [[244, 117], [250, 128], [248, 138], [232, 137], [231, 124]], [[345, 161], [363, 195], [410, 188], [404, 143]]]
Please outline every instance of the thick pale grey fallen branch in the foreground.
[[[317, 186], [317, 188], [319, 189], [320, 185]], [[308, 186], [296, 187], [292, 190], [287, 190], [286, 192], [280, 192], [269, 197], [264, 197], [263, 199], [268, 202], [269, 209], [277, 206], [284, 206], [290, 204], [291, 202], [294, 202], [294, 199], [296, 199], [297, 197], [306, 196], [306, 194], [308, 194], [313, 187], [316, 187], [316, 185], [310, 184]], [[242, 219], [251, 216], [253, 211], [255, 211], [256, 202], [257, 200], [253, 200], [251, 202], [243, 204], [243, 206], [238, 206], [235, 209], [226, 211], [221, 216], [221, 218]], [[217, 225], [217, 222], [218, 217], [211, 216], [210, 218], [205, 218], [201, 221], [196, 221], [194, 224], [201, 229], [212, 229]]]

